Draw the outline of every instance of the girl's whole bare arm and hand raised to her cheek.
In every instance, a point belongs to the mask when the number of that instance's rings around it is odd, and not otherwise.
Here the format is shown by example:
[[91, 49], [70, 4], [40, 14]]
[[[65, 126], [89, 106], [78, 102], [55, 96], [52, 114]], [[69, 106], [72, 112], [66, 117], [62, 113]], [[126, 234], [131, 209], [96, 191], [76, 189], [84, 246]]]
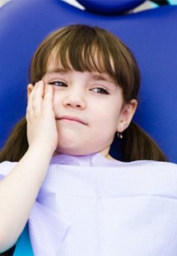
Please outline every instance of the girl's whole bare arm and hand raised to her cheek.
[[53, 97], [52, 86], [44, 81], [28, 86], [29, 149], [0, 184], [0, 253], [21, 235], [58, 145]]

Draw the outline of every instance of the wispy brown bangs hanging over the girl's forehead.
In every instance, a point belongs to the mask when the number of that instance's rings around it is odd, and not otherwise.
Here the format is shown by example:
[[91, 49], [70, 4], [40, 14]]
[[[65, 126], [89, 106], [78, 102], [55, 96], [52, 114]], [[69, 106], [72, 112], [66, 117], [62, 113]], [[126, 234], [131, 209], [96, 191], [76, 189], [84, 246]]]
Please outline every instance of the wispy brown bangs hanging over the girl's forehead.
[[111, 78], [116, 79], [114, 60], [109, 47], [93, 33], [93, 30], [80, 31], [79, 34], [69, 33], [68, 36], [60, 37], [50, 57], [56, 68], [108, 73]]

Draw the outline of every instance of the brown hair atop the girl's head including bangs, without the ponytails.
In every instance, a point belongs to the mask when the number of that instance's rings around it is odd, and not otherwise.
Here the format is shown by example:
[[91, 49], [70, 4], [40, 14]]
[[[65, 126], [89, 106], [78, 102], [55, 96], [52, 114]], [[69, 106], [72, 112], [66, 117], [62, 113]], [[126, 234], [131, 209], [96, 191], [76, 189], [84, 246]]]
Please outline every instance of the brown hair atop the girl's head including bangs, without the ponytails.
[[30, 64], [30, 83], [35, 84], [54, 69], [107, 73], [123, 89], [125, 102], [137, 98], [140, 75], [133, 54], [113, 34], [97, 26], [66, 26], [49, 35]]

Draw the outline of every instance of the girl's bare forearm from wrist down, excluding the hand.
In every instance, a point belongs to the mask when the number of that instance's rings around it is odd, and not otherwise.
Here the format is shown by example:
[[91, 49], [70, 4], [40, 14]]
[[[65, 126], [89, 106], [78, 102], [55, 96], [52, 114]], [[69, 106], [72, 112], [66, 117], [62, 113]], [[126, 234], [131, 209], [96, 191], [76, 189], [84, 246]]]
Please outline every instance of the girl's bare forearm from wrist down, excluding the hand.
[[49, 149], [28, 149], [0, 183], [0, 252], [15, 244], [25, 227], [51, 157]]

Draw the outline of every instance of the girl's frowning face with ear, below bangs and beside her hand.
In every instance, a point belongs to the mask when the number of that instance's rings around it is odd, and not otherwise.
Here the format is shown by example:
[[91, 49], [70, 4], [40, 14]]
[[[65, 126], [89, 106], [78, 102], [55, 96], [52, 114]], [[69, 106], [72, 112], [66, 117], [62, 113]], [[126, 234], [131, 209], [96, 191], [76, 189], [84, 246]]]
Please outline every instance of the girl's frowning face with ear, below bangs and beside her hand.
[[124, 105], [121, 88], [106, 73], [56, 69], [52, 59], [43, 80], [54, 88], [56, 151], [108, 156], [115, 132], [128, 126], [136, 101]]

